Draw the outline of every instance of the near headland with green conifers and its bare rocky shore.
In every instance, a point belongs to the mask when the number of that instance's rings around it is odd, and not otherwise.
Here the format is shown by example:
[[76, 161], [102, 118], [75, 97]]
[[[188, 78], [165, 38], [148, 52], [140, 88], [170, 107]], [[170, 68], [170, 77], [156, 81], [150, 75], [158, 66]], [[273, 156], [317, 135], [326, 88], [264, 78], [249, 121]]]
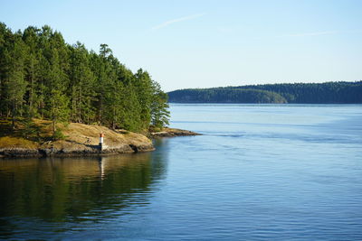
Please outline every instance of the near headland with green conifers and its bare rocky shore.
[[0, 23], [0, 155], [148, 152], [148, 137], [192, 134], [165, 128], [169, 116], [157, 81], [107, 44], [89, 51], [48, 25], [14, 32]]

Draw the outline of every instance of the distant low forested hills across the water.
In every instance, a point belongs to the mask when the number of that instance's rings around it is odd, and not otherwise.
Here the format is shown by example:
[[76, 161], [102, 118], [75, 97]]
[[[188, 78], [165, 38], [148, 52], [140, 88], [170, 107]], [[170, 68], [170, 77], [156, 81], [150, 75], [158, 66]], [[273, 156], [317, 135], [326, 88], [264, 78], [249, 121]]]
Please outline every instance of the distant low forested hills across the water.
[[179, 103], [362, 103], [362, 81], [190, 88], [171, 91], [169, 102]]

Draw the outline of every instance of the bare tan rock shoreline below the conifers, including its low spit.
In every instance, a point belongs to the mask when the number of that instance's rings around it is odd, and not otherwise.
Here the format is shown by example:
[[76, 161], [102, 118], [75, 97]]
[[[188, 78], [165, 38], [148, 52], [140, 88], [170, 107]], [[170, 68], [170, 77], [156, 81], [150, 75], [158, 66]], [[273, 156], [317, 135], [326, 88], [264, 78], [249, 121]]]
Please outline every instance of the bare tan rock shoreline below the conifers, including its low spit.
[[[117, 153], [144, 153], [154, 151], [152, 141], [148, 138], [198, 135], [197, 133], [164, 128], [161, 132], [148, 134], [131, 133], [125, 130], [110, 130], [104, 126], [71, 123], [64, 131], [66, 138], [48, 141], [43, 144], [17, 137], [0, 138], [1, 157], [48, 157], [48, 156], [94, 156]], [[100, 148], [99, 135], [105, 135]]]

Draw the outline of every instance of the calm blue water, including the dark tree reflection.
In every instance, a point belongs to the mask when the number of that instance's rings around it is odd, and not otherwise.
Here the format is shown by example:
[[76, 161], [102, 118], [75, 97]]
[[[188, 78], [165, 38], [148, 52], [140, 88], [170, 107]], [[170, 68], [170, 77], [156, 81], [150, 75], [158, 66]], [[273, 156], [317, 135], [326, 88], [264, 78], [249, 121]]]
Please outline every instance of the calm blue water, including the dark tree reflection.
[[0, 160], [0, 239], [362, 239], [361, 105], [170, 109], [203, 135]]

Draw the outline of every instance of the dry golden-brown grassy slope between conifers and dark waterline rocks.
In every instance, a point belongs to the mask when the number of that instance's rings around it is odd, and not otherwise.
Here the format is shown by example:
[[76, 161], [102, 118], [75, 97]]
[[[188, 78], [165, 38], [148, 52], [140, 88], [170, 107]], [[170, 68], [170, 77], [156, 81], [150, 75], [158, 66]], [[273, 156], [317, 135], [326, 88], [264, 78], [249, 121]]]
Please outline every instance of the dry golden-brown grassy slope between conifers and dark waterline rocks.
[[124, 130], [112, 131], [105, 126], [71, 123], [69, 125], [57, 124], [56, 127], [62, 130], [62, 134], [65, 136], [64, 140], [52, 141], [51, 121], [33, 119], [31, 127], [33, 132], [27, 134], [26, 126], [22, 122], [18, 122], [16, 129], [13, 130], [10, 121], [0, 120], [0, 148], [37, 148], [39, 146], [53, 146], [71, 150], [92, 148], [99, 144], [100, 133], [105, 135], [104, 144], [110, 148], [129, 144], [151, 144], [151, 141], [143, 134]]

